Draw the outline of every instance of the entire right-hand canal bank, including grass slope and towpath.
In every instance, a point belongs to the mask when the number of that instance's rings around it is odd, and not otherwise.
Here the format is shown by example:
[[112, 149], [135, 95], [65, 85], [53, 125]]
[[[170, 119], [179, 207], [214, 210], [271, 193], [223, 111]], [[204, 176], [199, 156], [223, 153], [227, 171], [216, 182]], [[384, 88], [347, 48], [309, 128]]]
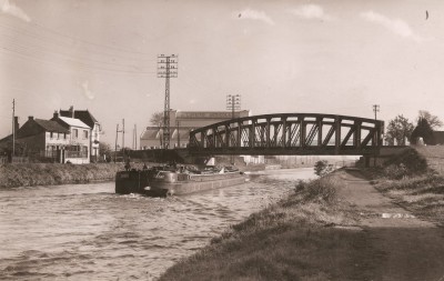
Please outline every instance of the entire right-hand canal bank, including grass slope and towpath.
[[414, 151], [299, 182], [160, 280], [440, 280], [442, 183]]

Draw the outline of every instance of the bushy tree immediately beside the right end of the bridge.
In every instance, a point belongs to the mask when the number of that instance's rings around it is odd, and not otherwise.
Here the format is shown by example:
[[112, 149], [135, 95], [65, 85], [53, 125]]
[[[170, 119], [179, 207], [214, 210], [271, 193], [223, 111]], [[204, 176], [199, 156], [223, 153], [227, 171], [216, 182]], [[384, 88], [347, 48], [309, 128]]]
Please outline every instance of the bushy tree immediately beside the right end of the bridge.
[[394, 145], [395, 140], [398, 145], [405, 145], [405, 138], [410, 139], [413, 132], [413, 123], [402, 114], [389, 121], [385, 141], [389, 145]]

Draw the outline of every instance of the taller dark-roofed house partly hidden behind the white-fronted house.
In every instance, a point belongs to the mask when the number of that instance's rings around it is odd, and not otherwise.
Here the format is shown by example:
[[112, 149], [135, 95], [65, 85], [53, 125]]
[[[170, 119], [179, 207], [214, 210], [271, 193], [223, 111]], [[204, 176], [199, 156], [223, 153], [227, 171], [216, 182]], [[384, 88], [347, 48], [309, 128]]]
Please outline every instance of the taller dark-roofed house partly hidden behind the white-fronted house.
[[68, 117], [79, 119], [83, 123], [88, 124], [91, 128], [91, 137], [90, 137], [90, 159], [91, 161], [99, 160], [99, 143], [100, 143], [100, 123], [99, 121], [91, 114], [91, 112], [87, 110], [74, 110], [71, 106], [69, 110], [60, 110], [60, 117]]

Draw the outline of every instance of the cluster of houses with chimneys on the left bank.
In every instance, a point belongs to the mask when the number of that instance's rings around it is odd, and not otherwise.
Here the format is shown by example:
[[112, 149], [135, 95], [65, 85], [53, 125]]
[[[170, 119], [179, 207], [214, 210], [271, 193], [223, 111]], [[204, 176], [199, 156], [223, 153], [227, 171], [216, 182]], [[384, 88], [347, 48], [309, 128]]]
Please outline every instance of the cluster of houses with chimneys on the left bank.
[[[52, 159], [60, 163], [98, 160], [100, 124], [95, 118], [88, 110], [73, 111], [72, 107], [61, 113], [56, 111], [51, 120], [29, 117], [20, 129], [16, 118], [16, 155]], [[0, 149], [11, 158], [12, 134], [0, 140]]]

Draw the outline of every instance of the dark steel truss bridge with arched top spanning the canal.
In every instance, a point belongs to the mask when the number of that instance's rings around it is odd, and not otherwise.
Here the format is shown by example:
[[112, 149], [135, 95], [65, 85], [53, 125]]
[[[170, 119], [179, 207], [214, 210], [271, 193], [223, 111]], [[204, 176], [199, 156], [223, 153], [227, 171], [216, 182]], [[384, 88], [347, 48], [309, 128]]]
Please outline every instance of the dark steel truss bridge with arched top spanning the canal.
[[377, 154], [384, 121], [319, 113], [231, 119], [190, 132], [194, 155]]

